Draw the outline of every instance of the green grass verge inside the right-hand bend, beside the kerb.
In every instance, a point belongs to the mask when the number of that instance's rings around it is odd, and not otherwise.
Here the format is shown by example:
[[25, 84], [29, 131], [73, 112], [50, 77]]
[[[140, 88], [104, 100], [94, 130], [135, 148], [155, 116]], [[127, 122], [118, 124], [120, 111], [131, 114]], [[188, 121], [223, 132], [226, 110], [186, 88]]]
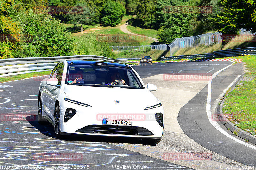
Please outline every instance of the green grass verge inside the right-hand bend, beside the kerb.
[[228, 93], [223, 106], [223, 113], [235, 125], [252, 135], [256, 135], [256, 56], [232, 57], [242, 59], [246, 63], [247, 80]]

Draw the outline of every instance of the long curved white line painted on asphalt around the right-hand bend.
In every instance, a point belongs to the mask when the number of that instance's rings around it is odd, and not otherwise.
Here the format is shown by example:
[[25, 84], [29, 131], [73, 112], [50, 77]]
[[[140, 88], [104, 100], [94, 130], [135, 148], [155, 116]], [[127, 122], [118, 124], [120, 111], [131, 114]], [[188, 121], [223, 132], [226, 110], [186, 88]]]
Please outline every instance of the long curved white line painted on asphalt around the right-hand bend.
[[[223, 69], [221, 69], [221, 70], [215, 72], [215, 73], [212, 75], [212, 79], [213, 79], [214, 77], [216, 77], [221, 71], [227, 69], [228, 67], [232, 66], [232, 65], [235, 63], [235, 62], [233, 62], [233, 61], [231, 61], [231, 62], [232, 62], [232, 64], [230, 64], [230, 65], [224, 67]], [[233, 82], [234, 82], [234, 81], [233, 81]], [[232, 83], [233, 83], [233, 82], [232, 82]], [[232, 84], [232, 83], [231, 83], [231, 84]], [[232, 137], [231, 135], [229, 135], [224, 129], [222, 129], [222, 128], [220, 127], [220, 125], [219, 125], [216, 121], [213, 121], [213, 120], [212, 120], [212, 113], [211, 113], [212, 87], [211, 87], [211, 84], [212, 84], [212, 80], [209, 80], [209, 81], [208, 81], [207, 103], [206, 103], [206, 112], [207, 112], [207, 116], [208, 116], [209, 122], [212, 124], [212, 126], [214, 126], [217, 130], [220, 131], [220, 133], [222, 133], [222, 134], [225, 135], [226, 137], [229, 137], [230, 139], [233, 139], [234, 141], [236, 141], [236, 142], [238, 142], [238, 143], [240, 143], [240, 144], [243, 144], [244, 146], [247, 146], [247, 147], [249, 147], [249, 148], [251, 148], [251, 149], [256, 150], [256, 147], [255, 147], [255, 146], [253, 146], [253, 145], [251, 145], [251, 144], [247, 144], [247, 143], [245, 143], [244, 141], [241, 141], [241, 140], [239, 140], [239, 139], [237, 139], [237, 138]]]

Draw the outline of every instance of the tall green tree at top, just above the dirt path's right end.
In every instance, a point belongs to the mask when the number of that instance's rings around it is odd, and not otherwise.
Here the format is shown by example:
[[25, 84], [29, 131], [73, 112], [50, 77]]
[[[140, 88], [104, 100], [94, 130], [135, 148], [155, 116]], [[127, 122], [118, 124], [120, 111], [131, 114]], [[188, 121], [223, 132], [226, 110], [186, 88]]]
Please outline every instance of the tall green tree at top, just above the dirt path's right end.
[[136, 19], [141, 26], [153, 28], [155, 26], [156, 0], [139, 0], [135, 10]]

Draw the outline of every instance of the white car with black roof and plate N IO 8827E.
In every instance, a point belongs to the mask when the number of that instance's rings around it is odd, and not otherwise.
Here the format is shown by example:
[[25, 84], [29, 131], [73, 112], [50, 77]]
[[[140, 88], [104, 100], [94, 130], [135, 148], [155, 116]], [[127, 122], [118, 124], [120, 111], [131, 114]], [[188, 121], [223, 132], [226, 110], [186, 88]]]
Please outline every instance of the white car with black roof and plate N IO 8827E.
[[126, 64], [63, 60], [40, 84], [38, 122], [49, 121], [57, 137], [138, 137], [157, 144], [164, 109], [155, 90]]

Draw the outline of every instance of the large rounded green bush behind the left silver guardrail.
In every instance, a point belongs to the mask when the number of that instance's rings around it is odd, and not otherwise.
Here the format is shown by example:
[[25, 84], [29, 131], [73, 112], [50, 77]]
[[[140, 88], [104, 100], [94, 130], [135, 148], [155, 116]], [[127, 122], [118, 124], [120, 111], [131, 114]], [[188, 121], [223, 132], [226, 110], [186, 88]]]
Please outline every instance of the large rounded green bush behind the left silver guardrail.
[[73, 38], [59, 20], [48, 14], [20, 11], [16, 21], [22, 28], [21, 34], [31, 37], [20, 41], [20, 49], [14, 57], [47, 57], [70, 55], [74, 49]]

